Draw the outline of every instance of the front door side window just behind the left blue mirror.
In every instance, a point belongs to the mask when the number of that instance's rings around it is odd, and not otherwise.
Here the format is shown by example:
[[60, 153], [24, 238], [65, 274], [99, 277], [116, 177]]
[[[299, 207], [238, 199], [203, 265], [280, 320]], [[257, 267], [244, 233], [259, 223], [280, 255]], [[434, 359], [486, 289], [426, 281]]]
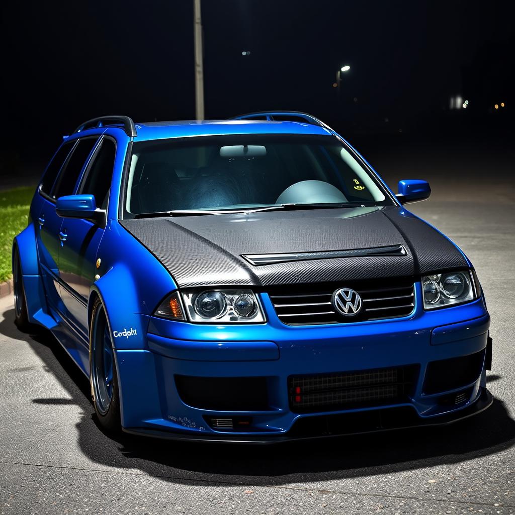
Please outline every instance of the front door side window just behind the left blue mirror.
[[100, 209], [107, 209], [115, 150], [114, 143], [104, 138], [79, 186], [78, 193], [94, 195]]

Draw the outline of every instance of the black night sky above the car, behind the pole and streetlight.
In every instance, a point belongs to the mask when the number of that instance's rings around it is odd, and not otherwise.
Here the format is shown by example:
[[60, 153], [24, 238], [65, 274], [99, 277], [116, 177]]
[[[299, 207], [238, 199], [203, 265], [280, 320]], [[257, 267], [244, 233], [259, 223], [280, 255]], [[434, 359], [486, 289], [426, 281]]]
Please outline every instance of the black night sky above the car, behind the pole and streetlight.
[[[373, 130], [436, 115], [451, 94], [476, 112], [501, 96], [515, 105], [508, 5], [203, 0], [206, 117], [295, 109]], [[4, 158], [46, 158], [62, 134], [102, 114], [195, 116], [193, 0], [2, 10]], [[332, 83], [344, 64], [338, 111]]]

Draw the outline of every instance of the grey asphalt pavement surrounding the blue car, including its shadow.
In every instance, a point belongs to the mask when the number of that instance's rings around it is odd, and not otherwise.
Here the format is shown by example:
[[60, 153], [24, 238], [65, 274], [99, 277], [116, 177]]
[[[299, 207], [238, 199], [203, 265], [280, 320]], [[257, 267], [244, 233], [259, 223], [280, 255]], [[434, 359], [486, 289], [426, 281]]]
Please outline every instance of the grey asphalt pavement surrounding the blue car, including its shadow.
[[515, 513], [515, 181], [512, 151], [481, 145], [366, 154], [394, 184], [430, 178], [410, 209], [468, 254], [492, 317], [493, 405], [445, 428], [279, 447], [112, 439], [89, 383], [0, 300], [0, 514]]

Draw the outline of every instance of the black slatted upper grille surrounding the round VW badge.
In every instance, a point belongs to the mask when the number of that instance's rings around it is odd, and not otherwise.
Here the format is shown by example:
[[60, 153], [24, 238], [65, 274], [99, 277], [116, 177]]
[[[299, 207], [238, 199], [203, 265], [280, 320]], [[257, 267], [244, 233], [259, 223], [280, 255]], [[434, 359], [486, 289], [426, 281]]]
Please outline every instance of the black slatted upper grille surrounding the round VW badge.
[[[332, 304], [334, 291], [353, 288], [363, 306], [355, 316], [342, 316]], [[313, 289], [269, 292], [279, 319], [287, 325], [317, 325], [383, 320], [409, 315], [415, 305], [413, 279], [341, 283]]]

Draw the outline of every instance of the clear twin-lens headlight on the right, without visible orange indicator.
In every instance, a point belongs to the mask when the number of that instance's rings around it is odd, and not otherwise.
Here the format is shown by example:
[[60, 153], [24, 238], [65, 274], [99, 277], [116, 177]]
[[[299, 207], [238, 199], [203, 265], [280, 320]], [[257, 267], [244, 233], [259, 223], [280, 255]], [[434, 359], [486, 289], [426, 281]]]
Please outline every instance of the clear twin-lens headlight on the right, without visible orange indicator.
[[479, 283], [472, 270], [435, 273], [422, 277], [424, 309], [462, 304], [477, 299]]

